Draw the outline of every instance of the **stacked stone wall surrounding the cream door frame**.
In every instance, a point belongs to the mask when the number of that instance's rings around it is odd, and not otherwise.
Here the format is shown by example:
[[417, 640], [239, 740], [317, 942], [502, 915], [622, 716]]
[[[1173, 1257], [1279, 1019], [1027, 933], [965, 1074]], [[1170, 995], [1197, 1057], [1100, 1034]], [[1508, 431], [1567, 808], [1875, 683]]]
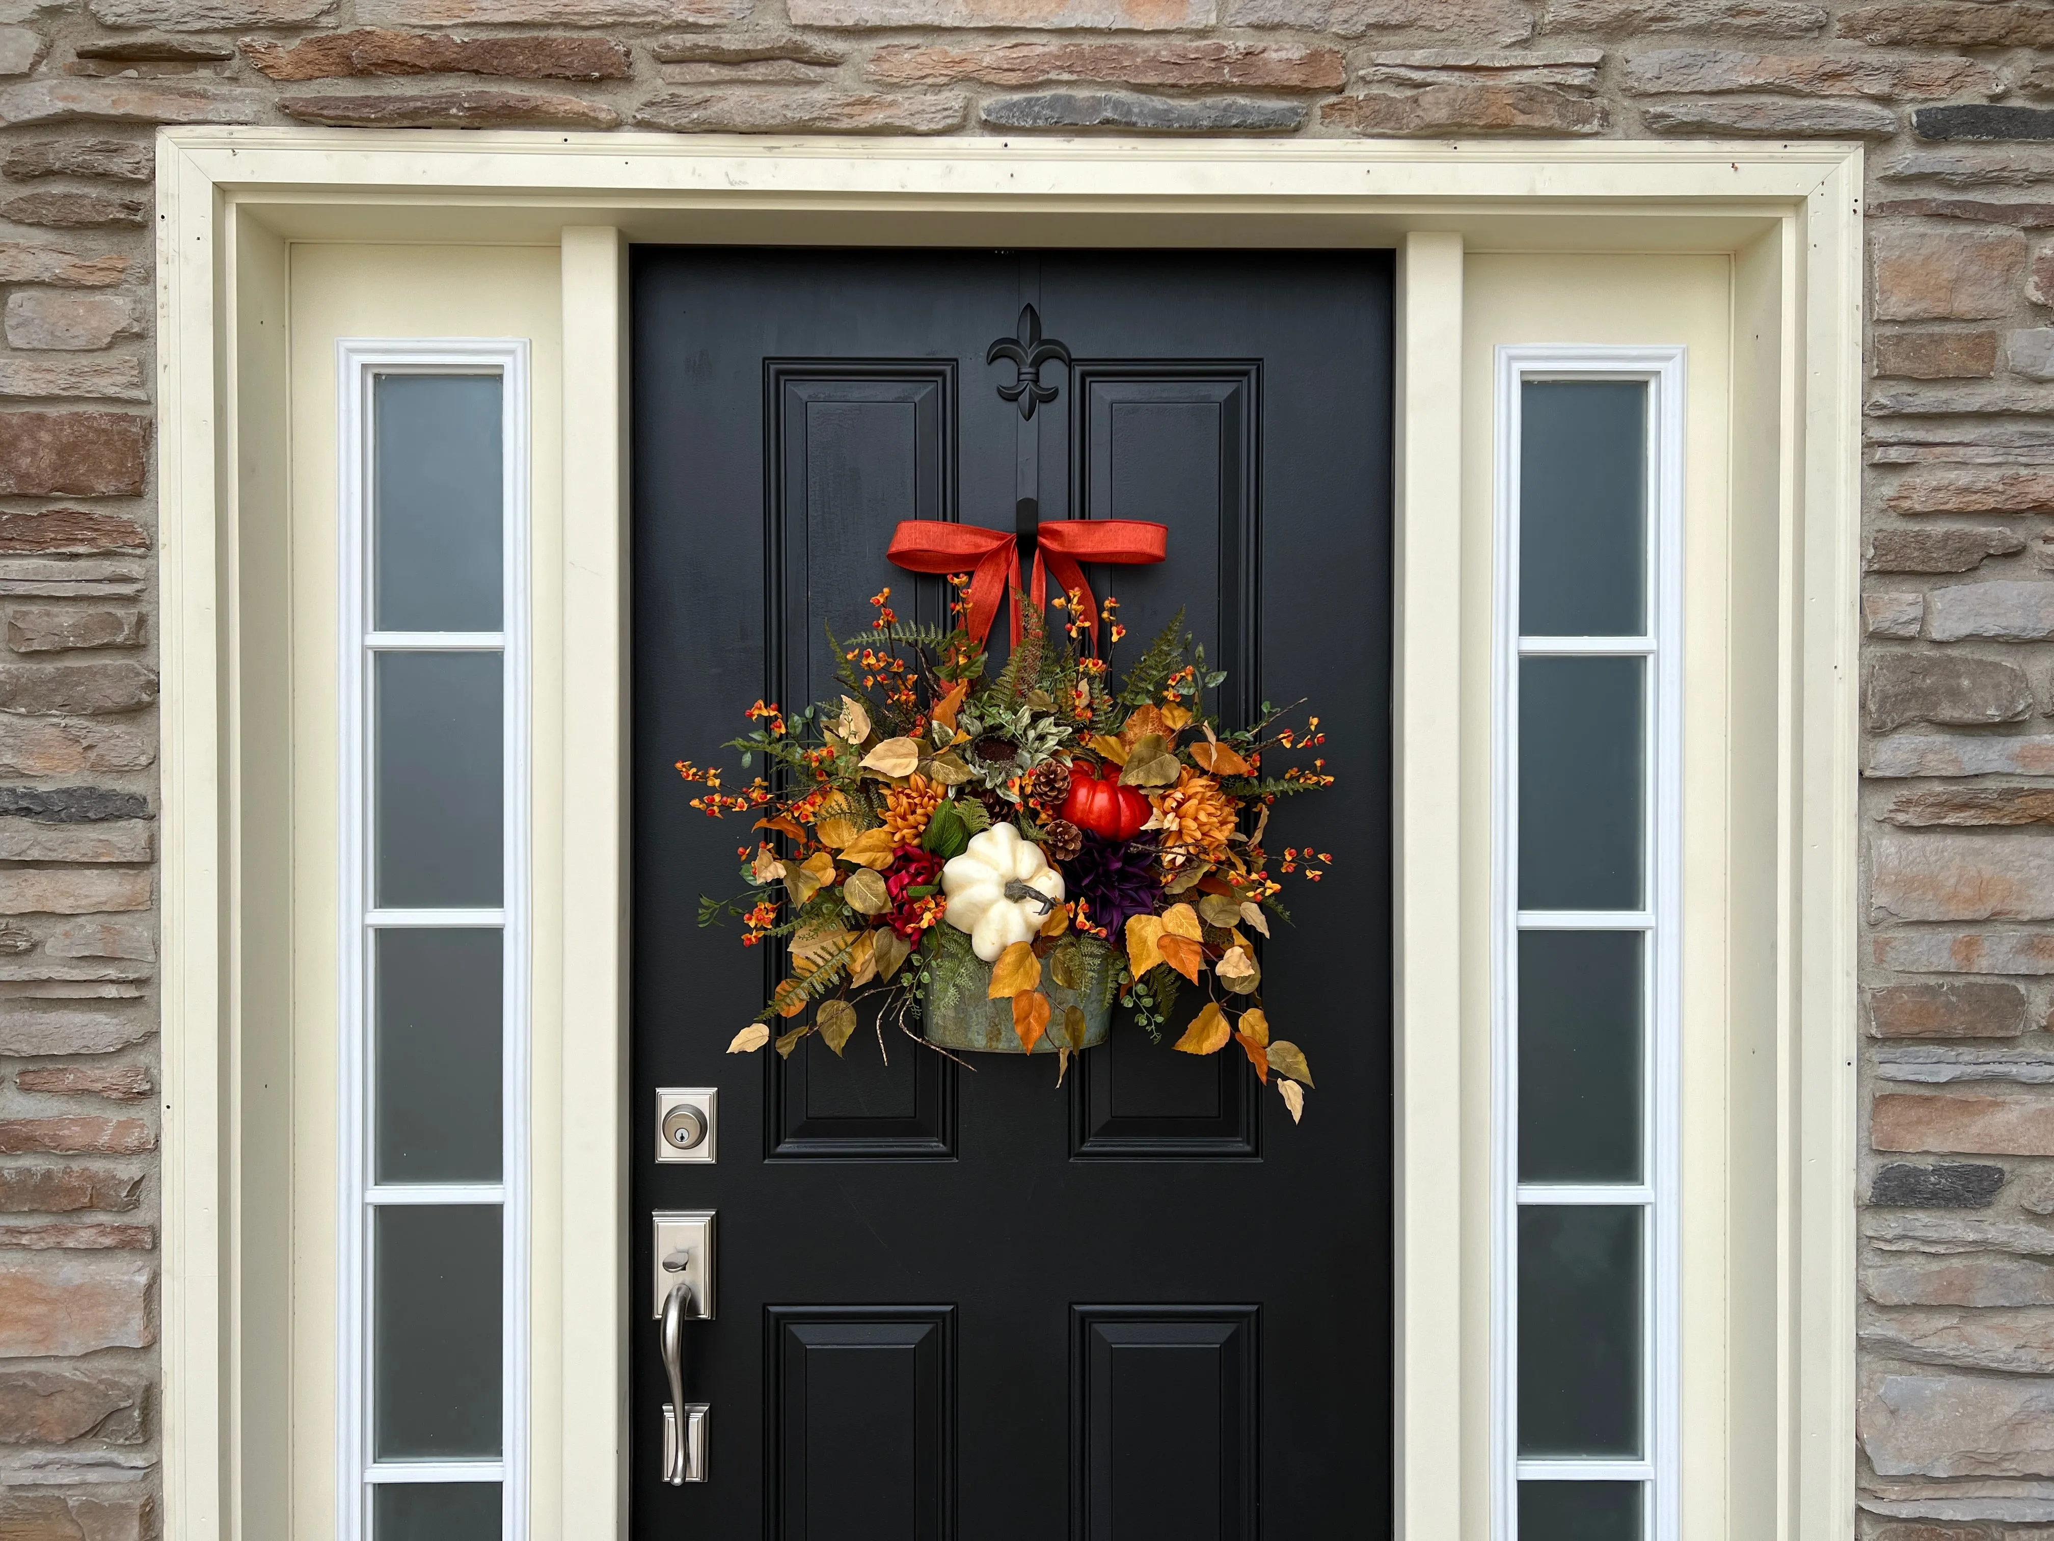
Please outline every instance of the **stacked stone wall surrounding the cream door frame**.
[[12, 1541], [156, 1527], [156, 123], [1867, 140], [1849, 1504], [2054, 1537], [2054, 4], [0, 0]]

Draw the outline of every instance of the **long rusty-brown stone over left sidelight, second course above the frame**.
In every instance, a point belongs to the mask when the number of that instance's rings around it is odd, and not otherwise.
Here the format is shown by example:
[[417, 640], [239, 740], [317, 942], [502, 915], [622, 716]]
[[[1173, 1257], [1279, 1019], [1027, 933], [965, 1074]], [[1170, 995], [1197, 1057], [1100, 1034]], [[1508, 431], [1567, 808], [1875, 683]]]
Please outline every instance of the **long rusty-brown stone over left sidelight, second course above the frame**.
[[273, 80], [378, 74], [497, 74], [522, 80], [626, 80], [635, 55], [608, 37], [448, 37], [359, 27], [279, 43], [244, 37], [251, 64]]

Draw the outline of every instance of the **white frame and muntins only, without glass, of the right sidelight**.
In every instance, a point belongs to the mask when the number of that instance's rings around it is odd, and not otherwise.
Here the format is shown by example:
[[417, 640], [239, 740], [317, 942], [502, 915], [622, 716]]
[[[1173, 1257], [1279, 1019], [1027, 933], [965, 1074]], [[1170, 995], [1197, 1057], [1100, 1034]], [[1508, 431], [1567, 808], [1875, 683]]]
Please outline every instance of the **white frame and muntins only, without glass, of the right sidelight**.
[[[1499, 345], [1495, 349], [1495, 565], [1491, 625], [1491, 1449], [1493, 1535], [1518, 1541], [1520, 1481], [1641, 1481], [1645, 1541], [1680, 1535], [1682, 1021], [1682, 347]], [[1520, 440], [1528, 380], [1647, 384], [1647, 610], [1643, 637], [1520, 637]], [[1645, 657], [1647, 904], [1643, 912], [1518, 910], [1518, 680], [1526, 657]], [[1639, 1186], [1520, 1183], [1518, 945], [1522, 931], [1645, 931]], [[1639, 1204], [1643, 1407], [1639, 1461], [1518, 1457], [1518, 1223], [1522, 1206]]]

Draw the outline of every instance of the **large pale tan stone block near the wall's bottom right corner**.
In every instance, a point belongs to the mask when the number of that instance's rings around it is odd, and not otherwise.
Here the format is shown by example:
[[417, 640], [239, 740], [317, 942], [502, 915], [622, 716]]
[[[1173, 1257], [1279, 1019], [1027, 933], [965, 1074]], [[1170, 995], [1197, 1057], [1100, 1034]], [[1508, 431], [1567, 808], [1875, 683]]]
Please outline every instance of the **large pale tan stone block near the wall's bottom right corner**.
[[1884, 1477], [2050, 1477], [2054, 1381], [1888, 1375], [1859, 1430]]

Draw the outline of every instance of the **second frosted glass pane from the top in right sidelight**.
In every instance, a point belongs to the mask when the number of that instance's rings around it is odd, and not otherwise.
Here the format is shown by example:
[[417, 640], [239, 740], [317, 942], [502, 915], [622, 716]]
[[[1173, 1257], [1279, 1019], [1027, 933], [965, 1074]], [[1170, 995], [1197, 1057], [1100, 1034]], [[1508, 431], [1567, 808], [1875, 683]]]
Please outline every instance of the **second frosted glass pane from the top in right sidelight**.
[[1520, 908], [1641, 908], [1639, 657], [1520, 662]]

